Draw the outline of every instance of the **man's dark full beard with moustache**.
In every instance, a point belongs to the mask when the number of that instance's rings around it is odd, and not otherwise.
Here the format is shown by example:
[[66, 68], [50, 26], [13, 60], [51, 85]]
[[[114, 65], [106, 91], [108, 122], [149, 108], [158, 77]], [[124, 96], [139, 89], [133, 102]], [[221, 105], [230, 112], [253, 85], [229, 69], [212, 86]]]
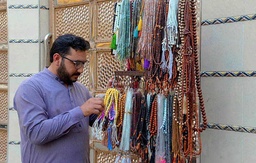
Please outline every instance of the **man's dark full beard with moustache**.
[[64, 83], [67, 83], [68, 85], [70, 85], [70, 84], [76, 82], [76, 80], [77, 80], [77, 79], [72, 80], [71, 77], [73, 75], [79, 76], [80, 73], [75, 73], [75, 74], [69, 75], [68, 70], [65, 67], [64, 60], [62, 60], [60, 63], [60, 67], [57, 69], [57, 75]]

